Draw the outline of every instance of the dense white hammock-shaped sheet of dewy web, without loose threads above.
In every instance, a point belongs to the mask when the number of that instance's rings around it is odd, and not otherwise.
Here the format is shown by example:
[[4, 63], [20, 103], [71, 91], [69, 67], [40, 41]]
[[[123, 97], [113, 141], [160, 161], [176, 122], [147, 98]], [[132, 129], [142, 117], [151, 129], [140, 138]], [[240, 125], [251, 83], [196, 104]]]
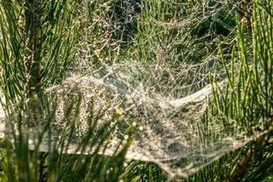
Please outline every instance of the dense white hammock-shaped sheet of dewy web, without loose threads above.
[[[111, 78], [107, 79], [108, 76]], [[128, 159], [155, 162], [170, 175], [187, 177], [227, 152], [243, 147], [254, 137], [238, 131], [236, 123], [228, 132], [217, 119], [209, 125], [204, 123], [202, 116], [207, 98], [211, 96], [210, 85], [191, 95], [171, 98], [149, 92], [141, 82], [136, 87], [130, 85], [126, 80], [128, 75], [108, 76], [71, 76], [63, 86], [47, 89], [63, 93], [73, 87], [84, 96], [76, 136], [85, 135], [86, 103], [89, 102], [94, 103], [94, 110], [106, 108], [99, 122], [110, 121], [113, 116], [120, 122], [106, 151], [108, 155], [112, 155], [119, 141], [126, 138], [126, 128], [135, 126], [135, 139], [126, 153]], [[62, 124], [56, 123], [56, 127], [61, 128]]]

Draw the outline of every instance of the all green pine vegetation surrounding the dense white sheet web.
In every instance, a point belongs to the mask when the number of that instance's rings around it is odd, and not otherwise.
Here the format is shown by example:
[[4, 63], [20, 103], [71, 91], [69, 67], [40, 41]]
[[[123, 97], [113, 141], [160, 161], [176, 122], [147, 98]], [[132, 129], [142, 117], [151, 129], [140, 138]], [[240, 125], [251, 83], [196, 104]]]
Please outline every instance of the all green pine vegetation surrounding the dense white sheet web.
[[[0, 181], [273, 180], [272, 1], [2, 0], [0, 27], [6, 124]], [[128, 160], [135, 126], [122, 126], [118, 109], [99, 123], [107, 108], [96, 110], [96, 100], [88, 103], [86, 133], [75, 136], [83, 96], [75, 89], [48, 94], [46, 88], [72, 73], [102, 77], [107, 66], [136, 63], [145, 71], [133, 73], [132, 83], [145, 80], [154, 93], [179, 98], [212, 84], [202, 121], [213, 126], [217, 120], [227, 135], [236, 121], [236, 131], [251, 139], [185, 178]], [[55, 135], [62, 102], [64, 128], [53, 145], [48, 140], [41, 148], [45, 136]], [[123, 137], [107, 155], [116, 127]], [[76, 139], [76, 150], [67, 152]]]

